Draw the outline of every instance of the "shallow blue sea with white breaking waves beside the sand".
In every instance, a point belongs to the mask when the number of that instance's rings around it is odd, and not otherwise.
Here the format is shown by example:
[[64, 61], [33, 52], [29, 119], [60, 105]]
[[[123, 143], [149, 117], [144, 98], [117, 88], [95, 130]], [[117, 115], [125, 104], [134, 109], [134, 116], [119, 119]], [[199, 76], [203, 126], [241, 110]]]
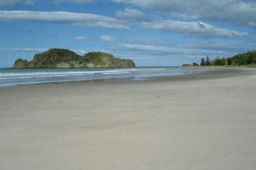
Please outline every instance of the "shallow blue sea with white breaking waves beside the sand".
[[199, 73], [184, 67], [83, 68], [83, 69], [0, 69], [0, 86], [31, 85], [61, 81], [129, 78], [141, 80], [153, 76]]

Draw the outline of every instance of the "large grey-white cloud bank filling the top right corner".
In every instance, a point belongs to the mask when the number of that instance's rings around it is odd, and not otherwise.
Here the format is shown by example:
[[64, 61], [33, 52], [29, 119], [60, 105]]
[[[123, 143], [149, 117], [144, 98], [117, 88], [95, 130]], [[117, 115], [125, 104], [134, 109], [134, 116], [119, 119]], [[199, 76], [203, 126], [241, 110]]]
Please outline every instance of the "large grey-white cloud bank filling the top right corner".
[[239, 25], [256, 22], [255, 0], [112, 0], [159, 11], [185, 20], [223, 21]]

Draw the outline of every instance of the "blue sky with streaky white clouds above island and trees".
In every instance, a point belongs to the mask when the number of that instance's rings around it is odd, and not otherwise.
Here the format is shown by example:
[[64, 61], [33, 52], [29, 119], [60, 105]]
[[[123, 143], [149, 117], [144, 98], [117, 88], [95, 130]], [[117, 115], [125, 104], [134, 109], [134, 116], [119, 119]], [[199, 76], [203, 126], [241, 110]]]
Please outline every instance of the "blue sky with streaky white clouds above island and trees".
[[0, 67], [49, 48], [181, 66], [256, 50], [255, 0], [0, 0]]

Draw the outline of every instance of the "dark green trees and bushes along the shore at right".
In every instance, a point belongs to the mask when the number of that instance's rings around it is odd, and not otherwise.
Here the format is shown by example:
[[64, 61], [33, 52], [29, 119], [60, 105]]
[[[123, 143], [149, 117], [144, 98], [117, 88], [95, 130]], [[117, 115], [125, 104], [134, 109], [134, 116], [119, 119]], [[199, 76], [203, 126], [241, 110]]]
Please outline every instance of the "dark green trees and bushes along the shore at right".
[[[183, 67], [199, 66], [196, 62], [193, 64], [183, 64]], [[256, 66], [256, 51], [248, 51], [246, 53], [239, 53], [233, 57], [216, 57], [214, 60], [210, 60], [209, 57], [201, 59], [200, 66]]]

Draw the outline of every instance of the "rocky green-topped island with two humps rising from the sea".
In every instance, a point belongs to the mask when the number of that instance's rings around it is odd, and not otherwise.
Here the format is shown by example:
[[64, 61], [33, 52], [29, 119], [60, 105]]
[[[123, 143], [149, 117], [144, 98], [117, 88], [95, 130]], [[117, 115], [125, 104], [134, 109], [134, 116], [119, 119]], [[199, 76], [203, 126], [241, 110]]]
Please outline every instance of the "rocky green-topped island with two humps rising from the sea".
[[67, 49], [53, 48], [35, 55], [34, 59], [17, 59], [13, 68], [82, 68], [82, 67], [135, 67], [132, 60], [118, 59], [109, 53], [90, 52], [84, 56]]

